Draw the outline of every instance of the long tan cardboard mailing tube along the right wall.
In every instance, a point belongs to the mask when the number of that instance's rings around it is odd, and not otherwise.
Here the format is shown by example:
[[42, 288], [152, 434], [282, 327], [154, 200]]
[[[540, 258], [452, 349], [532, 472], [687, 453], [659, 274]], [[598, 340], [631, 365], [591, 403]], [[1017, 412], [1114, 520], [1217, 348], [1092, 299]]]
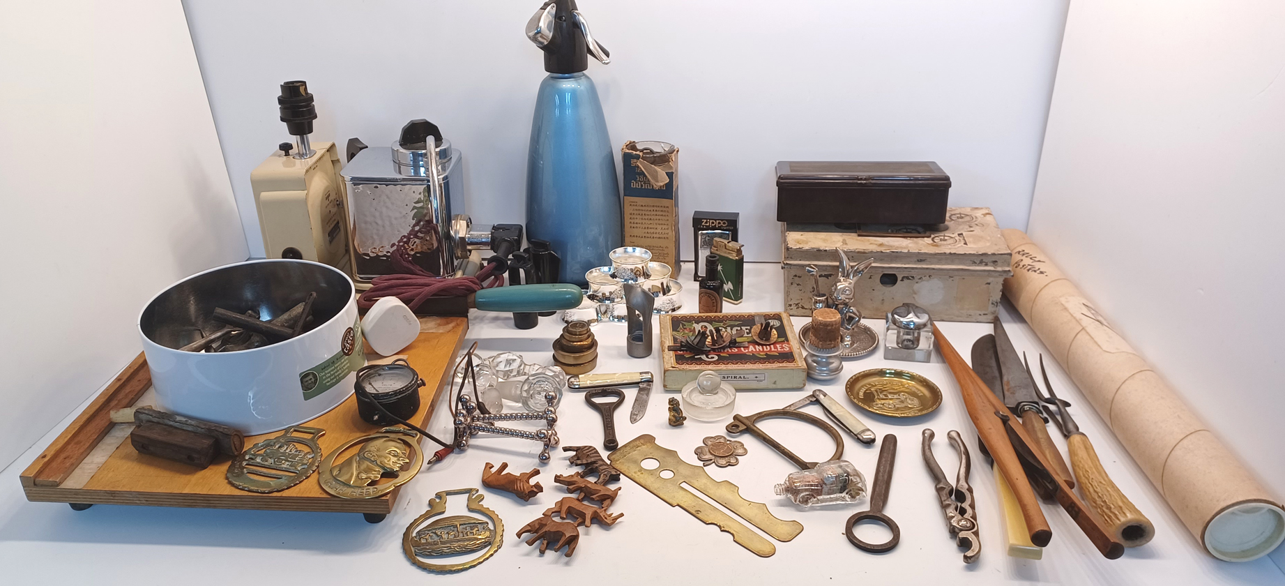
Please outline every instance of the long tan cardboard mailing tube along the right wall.
[[1205, 551], [1248, 562], [1285, 541], [1280, 500], [1040, 247], [1020, 230], [1004, 230], [1004, 239], [1013, 249], [1004, 294]]

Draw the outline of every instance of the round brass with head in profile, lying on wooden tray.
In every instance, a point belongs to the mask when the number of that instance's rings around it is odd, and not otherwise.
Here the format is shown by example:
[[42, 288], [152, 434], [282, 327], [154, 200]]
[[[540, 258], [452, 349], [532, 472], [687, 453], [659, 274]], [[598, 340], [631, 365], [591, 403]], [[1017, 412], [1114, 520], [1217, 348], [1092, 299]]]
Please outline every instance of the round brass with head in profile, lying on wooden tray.
[[[335, 464], [335, 457], [361, 443], [356, 454]], [[409, 464], [409, 466], [407, 466]], [[380, 433], [352, 440], [321, 461], [317, 481], [321, 488], [341, 499], [374, 499], [410, 482], [424, 466], [419, 433], [405, 428], [384, 428]], [[391, 475], [392, 482], [375, 484]]]

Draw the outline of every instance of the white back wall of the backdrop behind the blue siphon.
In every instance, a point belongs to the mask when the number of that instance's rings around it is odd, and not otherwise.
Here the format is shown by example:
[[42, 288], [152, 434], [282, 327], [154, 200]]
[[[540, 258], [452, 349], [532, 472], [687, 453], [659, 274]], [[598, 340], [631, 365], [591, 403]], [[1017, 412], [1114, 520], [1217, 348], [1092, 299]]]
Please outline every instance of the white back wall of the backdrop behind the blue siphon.
[[[523, 221], [538, 0], [184, 0], [253, 254], [249, 171], [278, 143], [278, 86], [308, 81], [315, 140], [391, 144], [427, 117], [464, 150], [475, 222]], [[955, 206], [1024, 227], [1067, 0], [583, 0], [612, 141], [681, 149], [682, 225], [740, 211], [780, 258], [781, 159], [932, 159]], [[617, 166], [619, 159], [617, 157]], [[687, 236], [690, 230], [684, 230]], [[690, 254], [690, 243], [682, 251]]]

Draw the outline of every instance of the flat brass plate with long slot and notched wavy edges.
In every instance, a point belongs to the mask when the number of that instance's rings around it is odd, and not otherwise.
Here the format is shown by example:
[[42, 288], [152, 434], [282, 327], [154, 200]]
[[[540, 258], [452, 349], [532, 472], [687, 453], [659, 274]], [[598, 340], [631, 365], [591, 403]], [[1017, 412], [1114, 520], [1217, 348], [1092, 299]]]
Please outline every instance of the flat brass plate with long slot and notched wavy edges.
[[[720, 529], [731, 533], [731, 538], [741, 547], [757, 555], [767, 558], [776, 553], [776, 546], [763, 536], [750, 531], [734, 517], [723, 513], [717, 506], [711, 505], [704, 499], [684, 488], [686, 484], [700, 493], [708, 496], [714, 502], [723, 505], [727, 510], [740, 515], [752, 526], [758, 527], [765, 533], [777, 541], [789, 541], [803, 532], [803, 524], [797, 520], [781, 520], [774, 517], [762, 502], [748, 501], [740, 496], [740, 488], [727, 481], [714, 481], [698, 465], [687, 464], [678, 457], [678, 452], [655, 445], [655, 437], [649, 434], [639, 436], [628, 443], [621, 446], [608, 457], [612, 466], [621, 470], [621, 474], [630, 477], [669, 506], [681, 506], [693, 517], [705, 524], [717, 526]], [[646, 460], [655, 460], [654, 466], [644, 466]]]

